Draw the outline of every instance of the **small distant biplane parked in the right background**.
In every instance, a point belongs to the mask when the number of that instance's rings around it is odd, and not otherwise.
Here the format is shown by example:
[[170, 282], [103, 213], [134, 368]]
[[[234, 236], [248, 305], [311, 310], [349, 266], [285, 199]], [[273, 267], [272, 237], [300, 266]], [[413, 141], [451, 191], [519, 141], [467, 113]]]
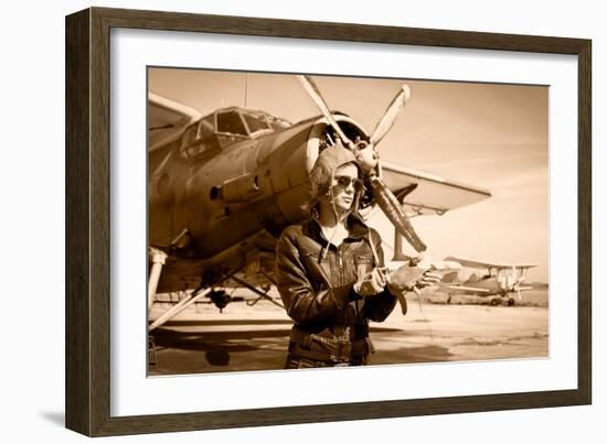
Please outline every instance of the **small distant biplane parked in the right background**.
[[510, 296], [517, 293], [518, 300], [522, 301], [521, 292], [532, 290], [531, 285], [523, 286], [526, 279], [526, 270], [537, 267], [539, 263], [493, 263], [482, 262], [472, 259], [462, 259], [449, 256], [445, 261], [457, 262], [466, 269], [479, 270], [480, 274], [471, 273], [465, 281], [461, 281], [461, 272], [454, 272], [443, 277], [438, 284], [439, 290], [449, 294], [450, 302], [454, 294], [473, 293], [481, 297], [491, 297], [491, 305], [512, 306], [515, 300]]

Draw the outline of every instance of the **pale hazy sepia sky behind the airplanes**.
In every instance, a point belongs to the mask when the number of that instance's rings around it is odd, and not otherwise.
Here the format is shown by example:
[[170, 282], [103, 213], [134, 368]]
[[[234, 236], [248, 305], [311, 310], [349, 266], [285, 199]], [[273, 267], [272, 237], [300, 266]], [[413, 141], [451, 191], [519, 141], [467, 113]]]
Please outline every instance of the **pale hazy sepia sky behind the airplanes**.
[[[413, 225], [432, 259], [535, 262], [549, 280], [549, 88], [546, 86], [313, 76], [333, 110], [372, 132], [403, 84], [412, 97], [379, 144], [382, 160], [489, 189], [492, 197]], [[149, 89], [205, 115], [242, 106], [297, 122], [320, 112], [294, 75], [150, 68]], [[392, 257], [381, 212], [369, 225]], [[406, 241], [405, 241], [406, 243]], [[413, 253], [413, 249], [405, 249]]]

